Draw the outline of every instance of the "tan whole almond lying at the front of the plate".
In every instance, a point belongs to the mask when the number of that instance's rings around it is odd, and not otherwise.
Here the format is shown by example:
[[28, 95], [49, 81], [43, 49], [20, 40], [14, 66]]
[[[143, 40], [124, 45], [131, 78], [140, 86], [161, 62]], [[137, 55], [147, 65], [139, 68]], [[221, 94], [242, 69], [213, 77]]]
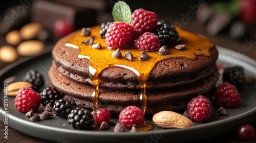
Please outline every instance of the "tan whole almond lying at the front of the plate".
[[162, 128], [185, 128], [194, 123], [182, 114], [173, 111], [161, 111], [153, 116], [153, 122]]

